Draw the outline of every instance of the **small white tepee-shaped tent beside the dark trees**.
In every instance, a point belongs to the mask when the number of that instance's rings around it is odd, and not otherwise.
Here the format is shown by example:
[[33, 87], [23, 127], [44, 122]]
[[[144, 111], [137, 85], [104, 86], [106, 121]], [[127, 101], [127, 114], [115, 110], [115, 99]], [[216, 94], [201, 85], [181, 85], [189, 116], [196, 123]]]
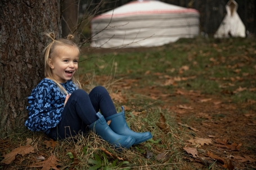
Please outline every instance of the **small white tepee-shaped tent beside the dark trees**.
[[237, 11], [238, 4], [234, 0], [226, 4], [227, 15], [214, 34], [214, 38], [245, 37], [245, 26]]

